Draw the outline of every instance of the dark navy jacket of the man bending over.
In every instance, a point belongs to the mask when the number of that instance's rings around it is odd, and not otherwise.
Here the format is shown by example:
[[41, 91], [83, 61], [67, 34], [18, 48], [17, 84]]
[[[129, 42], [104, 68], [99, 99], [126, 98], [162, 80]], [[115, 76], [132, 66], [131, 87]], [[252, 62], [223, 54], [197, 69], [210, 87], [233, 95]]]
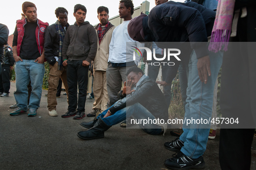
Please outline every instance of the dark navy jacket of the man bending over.
[[[198, 3], [168, 1], [151, 9], [149, 16], [143, 19], [143, 31], [147, 41], [189, 41], [197, 57], [201, 58], [208, 55], [206, 43], [207, 37], [211, 35], [214, 19], [215, 12]], [[160, 48], [166, 48], [156, 44]]]

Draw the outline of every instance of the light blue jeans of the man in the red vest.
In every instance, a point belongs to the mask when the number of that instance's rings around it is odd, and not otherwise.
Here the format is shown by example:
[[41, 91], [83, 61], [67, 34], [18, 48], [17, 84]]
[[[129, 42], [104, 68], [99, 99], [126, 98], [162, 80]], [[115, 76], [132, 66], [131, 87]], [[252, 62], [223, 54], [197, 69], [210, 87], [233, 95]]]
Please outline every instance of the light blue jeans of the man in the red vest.
[[27, 109], [28, 84], [31, 81], [31, 95], [29, 108], [38, 109], [42, 95], [43, 77], [45, 74], [45, 64], [35, 62], [35, 60], [17, 61], [16, 67], [16, 91], [14, 97], [17, 106], [22, 110]]

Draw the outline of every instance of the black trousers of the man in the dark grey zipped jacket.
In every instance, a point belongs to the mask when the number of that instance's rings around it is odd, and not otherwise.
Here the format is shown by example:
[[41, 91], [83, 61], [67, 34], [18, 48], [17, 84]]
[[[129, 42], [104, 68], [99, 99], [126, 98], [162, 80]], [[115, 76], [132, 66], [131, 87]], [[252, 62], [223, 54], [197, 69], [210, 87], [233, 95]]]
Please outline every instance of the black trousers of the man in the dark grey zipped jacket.
[[[68, 81], [68, 99], [69, 111], [84, 112], [87, 83], [88, 83], [88, 69], [89, 66], [83, 66], [82, 60], [70, 61], [67, 66], [67, 81]], [[78, 93], [79, 90], [79, 93]], [[78, 94], [78, 96], [77, 96]]]

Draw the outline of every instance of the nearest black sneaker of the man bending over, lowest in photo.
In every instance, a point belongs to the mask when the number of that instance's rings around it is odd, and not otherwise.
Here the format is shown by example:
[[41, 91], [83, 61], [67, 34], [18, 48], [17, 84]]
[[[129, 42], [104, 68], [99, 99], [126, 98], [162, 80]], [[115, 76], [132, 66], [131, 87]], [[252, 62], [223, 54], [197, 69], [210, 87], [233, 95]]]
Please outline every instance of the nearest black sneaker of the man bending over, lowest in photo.
[[205, 165], [203, 155], [197, 159], [192, 159], [179, 151], [172, 156], [172, 158], [165, 160], [165, 167], [172, 170], [203, 169]]

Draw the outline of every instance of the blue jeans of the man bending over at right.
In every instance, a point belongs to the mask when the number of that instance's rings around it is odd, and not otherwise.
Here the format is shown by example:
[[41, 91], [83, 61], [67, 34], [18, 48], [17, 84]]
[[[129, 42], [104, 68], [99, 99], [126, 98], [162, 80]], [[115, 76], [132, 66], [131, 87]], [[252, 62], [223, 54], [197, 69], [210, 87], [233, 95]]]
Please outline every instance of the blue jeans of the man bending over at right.
[[[211, 62], [211, 76], [208, 76], [207, 84], [200, 81], [198, 76], [198, 59], [193, 51], [189, 62], [189, 77], [187, 88], [187, 104], [185, 106], [185, 118], [207, 119], [211, 117], [213, 106], [214, 85], [222, 64], [223, 53], [209, 52]], [[198, 158], [206, 150], [211, 122], [205, 124], [183, 124], [183, 133], [180, 140], [184, 142], [181, 151], [188, 157]]]

